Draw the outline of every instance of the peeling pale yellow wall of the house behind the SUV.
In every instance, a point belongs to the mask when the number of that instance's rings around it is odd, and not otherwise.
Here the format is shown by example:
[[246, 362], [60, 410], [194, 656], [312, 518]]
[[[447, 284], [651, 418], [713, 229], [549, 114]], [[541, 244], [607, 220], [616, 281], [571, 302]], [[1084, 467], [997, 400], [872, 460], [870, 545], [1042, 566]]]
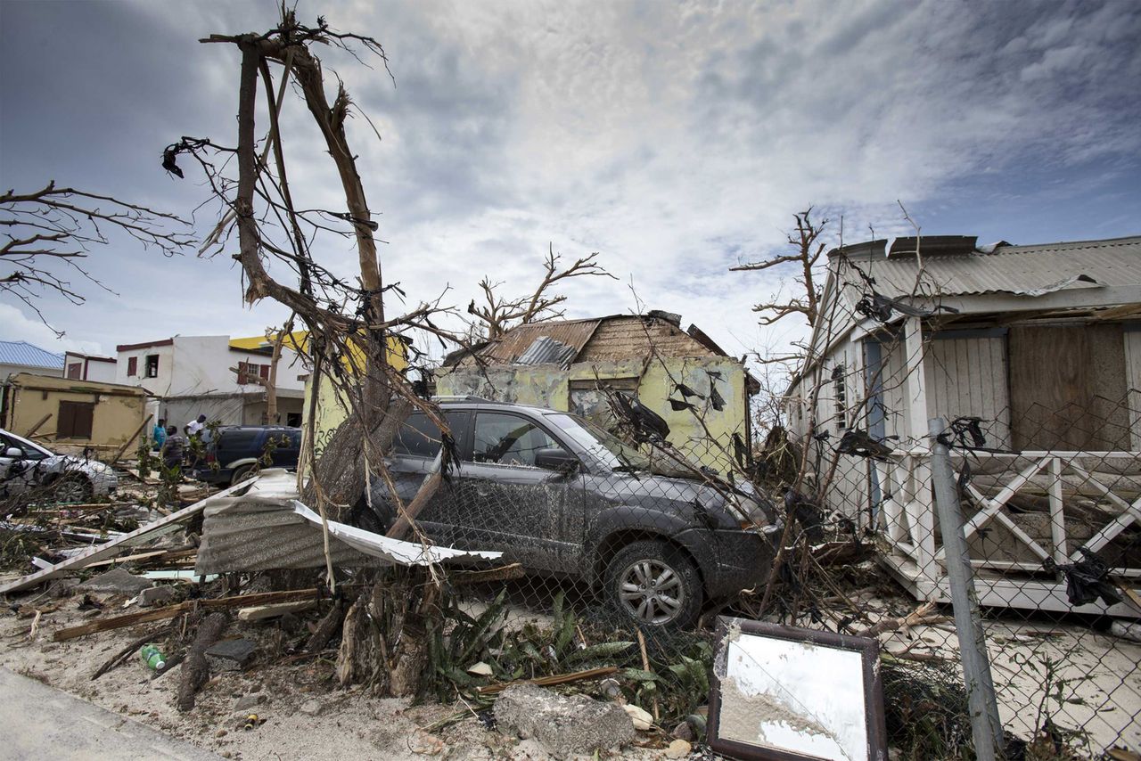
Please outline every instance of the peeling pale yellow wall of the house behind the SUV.
[[[499, 365], [486, 372], [456, 367], [442, 372], [436, 388], [442, 396], [470, 394], [496, 402], [575, 410], [605, 424], [606, 421], [599, 418], [606, 414], [606, 406], [600, 395], [589, 388], [596, 379], [614, 381], [617, 388], [636, 389], [639, 400], [669, 423], [670, 442], [714, 470], [725, 472], [728, 469], [734, 432], [747, 440], [745, 369], [726, 357], [578, 363], [568, 370], [556, 365]], [[683, 399], [675, 390], [677, 383], [705, 398]], [[725, 400], [720, 411], [710, 402], [711, 384], [715, 384]], [[671, 397], [695, 405], [697, 414], [690, 410], [674, 412], [669, 402]]]

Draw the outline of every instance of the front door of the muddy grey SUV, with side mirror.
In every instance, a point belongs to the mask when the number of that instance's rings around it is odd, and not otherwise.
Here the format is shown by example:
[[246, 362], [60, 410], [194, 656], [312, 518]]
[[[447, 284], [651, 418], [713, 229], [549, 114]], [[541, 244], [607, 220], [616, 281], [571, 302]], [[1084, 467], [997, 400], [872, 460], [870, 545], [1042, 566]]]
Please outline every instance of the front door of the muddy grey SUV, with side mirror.
[[478, 411], [471, 459], [459, 479], [458, 532], [529, 569], [574, 573], [582, 556], [583, 477], [539, 468], [536, 453], [550, 448], [570, 452], [535, 420]]

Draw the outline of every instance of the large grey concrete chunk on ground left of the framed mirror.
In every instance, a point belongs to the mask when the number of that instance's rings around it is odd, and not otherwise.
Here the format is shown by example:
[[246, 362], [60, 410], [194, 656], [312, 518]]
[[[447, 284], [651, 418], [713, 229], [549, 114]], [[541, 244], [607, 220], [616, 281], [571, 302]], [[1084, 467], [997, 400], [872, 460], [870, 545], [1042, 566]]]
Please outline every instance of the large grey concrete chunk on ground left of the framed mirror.
[[563, 696], [534, 685], [503, 690], [494, 713], [501, 731], [534, 738], [558, 759], [605, 751], [634, 738], [634, 724], [618, 705], [583, 695]]

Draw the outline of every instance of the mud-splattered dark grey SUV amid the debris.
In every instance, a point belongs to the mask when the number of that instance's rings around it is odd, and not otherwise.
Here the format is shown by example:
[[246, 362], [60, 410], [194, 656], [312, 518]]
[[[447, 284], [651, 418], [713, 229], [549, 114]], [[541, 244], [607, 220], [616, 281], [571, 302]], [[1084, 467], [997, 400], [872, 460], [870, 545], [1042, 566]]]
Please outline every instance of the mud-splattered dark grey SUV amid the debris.
[[[601, 585], [644, 626], [690, 625], [706, 600], [767, 576], [777, 527], [763, 497], [696, 472], [658, 475], [640, 451], [566, 412], [476, 397], [440, 407], [460, 467], [416, 518], [436, 543]], [[388, 460], [403, 502], [439, 448], [439, 430], [413, 413]], [[370, 497], [358, 523], [387, 529], [395, 510], [380, 478]]]

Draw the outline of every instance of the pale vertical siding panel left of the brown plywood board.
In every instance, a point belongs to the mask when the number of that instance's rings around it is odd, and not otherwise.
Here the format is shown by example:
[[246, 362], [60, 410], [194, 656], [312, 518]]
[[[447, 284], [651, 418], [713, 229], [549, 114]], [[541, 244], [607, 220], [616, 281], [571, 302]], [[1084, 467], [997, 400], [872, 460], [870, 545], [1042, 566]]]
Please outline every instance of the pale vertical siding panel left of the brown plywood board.
[[987, 446], [1010, 446], [1005, 337], [933, 340], [923, 364], [929, 416], [981, 418]]

